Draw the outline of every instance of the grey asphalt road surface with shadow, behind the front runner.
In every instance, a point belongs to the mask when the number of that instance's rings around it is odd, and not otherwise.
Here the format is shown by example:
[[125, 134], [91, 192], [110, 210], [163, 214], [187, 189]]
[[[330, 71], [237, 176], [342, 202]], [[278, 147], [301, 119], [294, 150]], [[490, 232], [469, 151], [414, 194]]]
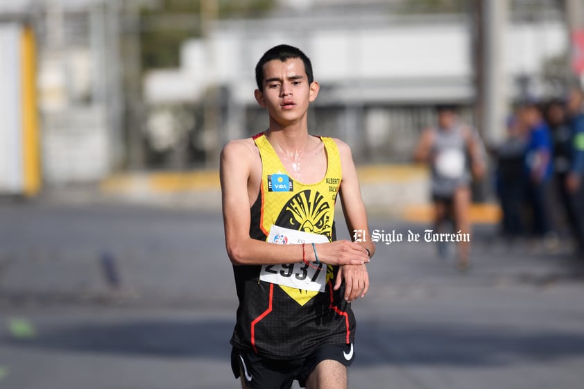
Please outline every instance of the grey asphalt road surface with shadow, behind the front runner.
[[[583, 387], [584, 279], [563, 243], [479, 226], [462, 274], [406, 241], [426, 226], [370, 227], [404, 241], [378, 244], [353, 304], [350, 388]], [[0, 202], [0, 388], [239, 388], [235, 306], [216, 212]]]

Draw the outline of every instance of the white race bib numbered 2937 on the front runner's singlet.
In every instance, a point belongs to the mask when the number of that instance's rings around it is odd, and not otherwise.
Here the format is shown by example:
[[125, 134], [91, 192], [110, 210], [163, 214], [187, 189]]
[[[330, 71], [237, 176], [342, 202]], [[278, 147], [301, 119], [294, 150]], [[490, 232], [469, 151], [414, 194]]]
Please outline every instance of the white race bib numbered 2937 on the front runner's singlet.
[[[324, 235], [290, 230], [277, 225], [272, 225], [270, 228], [267, 241], [280, 245], [307, 243], [306, 250], [312, 250], [310, 243], [329, 243], [329, 239]], [[327, 266], [324, 263], [264, 265], [261, 266], [259, 279], [304, 291], [324, 292], [327, 283]]]

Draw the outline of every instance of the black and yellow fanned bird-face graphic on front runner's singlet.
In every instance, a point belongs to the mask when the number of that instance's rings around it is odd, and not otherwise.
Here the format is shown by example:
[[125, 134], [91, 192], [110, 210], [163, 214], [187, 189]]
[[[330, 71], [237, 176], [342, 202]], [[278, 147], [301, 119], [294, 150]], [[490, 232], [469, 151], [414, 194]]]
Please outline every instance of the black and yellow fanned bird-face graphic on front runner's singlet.
[[[275, 225], [312, 234], [322, 234], [331, 241], [331, 205], [325, 196], [309, 189], [296, 193], [282, 208]], [[332, 266], [327, 266], [327, 282], [333, 277]], [[318, 291], [305, 291], [280, 285], [295, 302], [304, 305], [318, 294]]]

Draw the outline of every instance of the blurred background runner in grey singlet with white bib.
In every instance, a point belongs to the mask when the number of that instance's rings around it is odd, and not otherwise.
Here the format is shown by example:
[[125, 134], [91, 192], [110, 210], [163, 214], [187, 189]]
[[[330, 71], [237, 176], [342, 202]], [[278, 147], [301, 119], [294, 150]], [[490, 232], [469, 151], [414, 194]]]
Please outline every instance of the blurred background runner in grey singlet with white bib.
[[[468, 126], [458, 121], [454, 107], [440, 106], [437, 113], [438, 126], [422, 133], [414, 159], [431, 167], [436, 230], [444, 232], [445, 222], [452, 214], [455, 231], [470, 233], [471, 172], [467, 167], [470, 166], [476, 178], [483, 176], [481, 143]], [[469, 256], [470, 242], [459, 243], [457, 266], [460, 270], [467, 268]]]

